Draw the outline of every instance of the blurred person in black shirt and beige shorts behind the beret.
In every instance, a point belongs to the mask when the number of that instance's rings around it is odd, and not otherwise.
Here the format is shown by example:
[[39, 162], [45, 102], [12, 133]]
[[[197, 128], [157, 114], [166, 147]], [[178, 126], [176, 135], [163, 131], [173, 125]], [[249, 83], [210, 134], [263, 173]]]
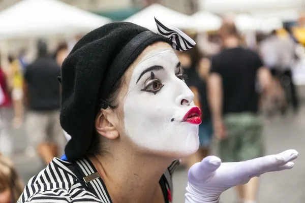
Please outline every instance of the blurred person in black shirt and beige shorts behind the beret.
[[[56, 77], [60, 67], [47, 52], [47, 44], [38, 42], [38, 57], [26, 67], [24, 93], [28, 113], [26, 131], [38, 154], [48, 163], [65, 144], [59, 124], [60, 87]], [[61, 149], [60, 149], [61, 150]]]

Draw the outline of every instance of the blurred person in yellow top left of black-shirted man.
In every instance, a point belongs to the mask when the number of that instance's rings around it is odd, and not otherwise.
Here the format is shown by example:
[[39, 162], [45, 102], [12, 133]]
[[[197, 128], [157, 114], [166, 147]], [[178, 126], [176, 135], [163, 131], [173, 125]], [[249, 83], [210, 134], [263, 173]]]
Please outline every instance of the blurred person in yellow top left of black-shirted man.
[[13, 100], [13, 108], [14, 108], [14, 119], [13, 119], [13, 127], [20, 128], [23, 123], [23, 72], [21, 64], [19, 60], [14, 56], [9, 55], [9, 69], [8, 69], [8, 77], [9, 83], [12, 89], [11, 96]]

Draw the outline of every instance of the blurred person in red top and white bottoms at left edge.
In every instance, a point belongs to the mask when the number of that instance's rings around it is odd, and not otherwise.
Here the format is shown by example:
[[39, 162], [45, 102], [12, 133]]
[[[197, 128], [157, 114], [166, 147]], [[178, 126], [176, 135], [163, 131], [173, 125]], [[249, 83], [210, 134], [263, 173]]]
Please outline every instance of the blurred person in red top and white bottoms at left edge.
[[11, 99], [8, 87], [8, 77], [0, 66], [0, 149], [2, 152], [10, 156], [12, 153], [12, 142], [9, 134], [9, 110], [11, 107]]

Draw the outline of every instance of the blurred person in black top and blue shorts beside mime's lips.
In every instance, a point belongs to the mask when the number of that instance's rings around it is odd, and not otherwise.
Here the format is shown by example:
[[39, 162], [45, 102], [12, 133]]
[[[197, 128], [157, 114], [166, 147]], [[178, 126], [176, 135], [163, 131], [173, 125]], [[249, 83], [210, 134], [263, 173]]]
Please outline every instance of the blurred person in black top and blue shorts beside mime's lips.
[[[185, 82], [194, 93], [194, 103], [201, 110], [201, 124], [199, 125], [200, 146], [196, 153], [182, 160], [186, 162], [188, 168], [193, 164], [200, 162], [209, 155], [209, 145], [212, 137], [212, 122], [206, 95], [206, 65], [201, 62], [199, 50], [193, 47], [191, 50], [177, 52], [181, 67], [184, 70]], [[208, 67], [207, 67], [208, 68]]]

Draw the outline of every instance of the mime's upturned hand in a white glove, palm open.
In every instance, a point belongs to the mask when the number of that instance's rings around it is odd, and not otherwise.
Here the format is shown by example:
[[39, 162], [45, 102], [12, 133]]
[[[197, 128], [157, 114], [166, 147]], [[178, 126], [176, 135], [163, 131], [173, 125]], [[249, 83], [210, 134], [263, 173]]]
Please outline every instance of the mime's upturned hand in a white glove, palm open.
[[264, 156], [248, 161], [222, 163], [208, 156], [189, 170], [186, 203], [217, 203], [227, 189], [246, 184], [253, 177], [293, 167], [290, 162], [298, 156], [295, 150]]

